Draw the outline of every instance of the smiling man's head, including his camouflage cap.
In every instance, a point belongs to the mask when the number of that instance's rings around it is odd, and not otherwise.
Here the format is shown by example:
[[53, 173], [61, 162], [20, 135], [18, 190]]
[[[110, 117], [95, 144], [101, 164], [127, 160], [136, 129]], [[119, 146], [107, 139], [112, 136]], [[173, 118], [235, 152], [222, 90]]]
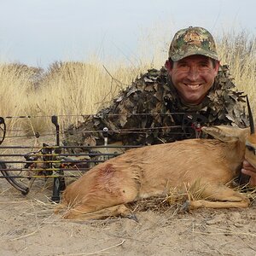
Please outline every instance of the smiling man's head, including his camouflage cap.
[[202, 27], [178, 31], [172, 39], [166, 68], [184, 103], [199, 104], [218, 74], [218, 55], [212, 35]]

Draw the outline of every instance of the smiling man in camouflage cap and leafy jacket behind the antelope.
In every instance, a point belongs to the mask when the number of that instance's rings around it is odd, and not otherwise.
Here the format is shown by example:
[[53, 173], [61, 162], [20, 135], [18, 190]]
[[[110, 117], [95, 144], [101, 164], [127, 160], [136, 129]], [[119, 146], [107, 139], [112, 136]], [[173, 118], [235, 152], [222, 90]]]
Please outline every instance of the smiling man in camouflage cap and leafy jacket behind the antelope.
[[[108, 128], [110, 143], [147, 145], [202, 137], [201, 125], [246, 127], [244, 96], [234, 87], [210, 32], [190, 26], [175, 34], [165, 67], [148, 70], [108, 108], [70, 127], [66, 143], [102, 144], [103, 128]], [[242, 172], [256, 185], [256, 170], [249, 163], [244, 162]]]

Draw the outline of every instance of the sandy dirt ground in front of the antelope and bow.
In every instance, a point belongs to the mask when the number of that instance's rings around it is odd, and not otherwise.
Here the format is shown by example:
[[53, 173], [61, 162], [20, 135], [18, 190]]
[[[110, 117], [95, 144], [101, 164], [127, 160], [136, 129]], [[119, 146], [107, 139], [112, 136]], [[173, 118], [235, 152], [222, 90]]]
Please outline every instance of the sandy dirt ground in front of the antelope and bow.
[[54, 214], [43, 181], [24, 196], [0, 179], [0, 255], [256, 255], [256, 203], [247, 209], [137, 212], [71, 221]]

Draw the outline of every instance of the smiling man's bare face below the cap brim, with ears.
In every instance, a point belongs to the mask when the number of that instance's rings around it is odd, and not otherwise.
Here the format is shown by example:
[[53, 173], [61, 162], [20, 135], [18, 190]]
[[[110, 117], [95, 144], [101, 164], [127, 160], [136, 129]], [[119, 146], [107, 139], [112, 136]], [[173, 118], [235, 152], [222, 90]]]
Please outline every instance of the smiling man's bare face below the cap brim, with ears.
[[218, 73], [219, 62], [213, 66], [212, 60], [204, 55], [191, 55], [174, 61], [171, 67], [166, 61], [168, 73], [178, 95], [184, 102], [199, 104], [212, 87]]

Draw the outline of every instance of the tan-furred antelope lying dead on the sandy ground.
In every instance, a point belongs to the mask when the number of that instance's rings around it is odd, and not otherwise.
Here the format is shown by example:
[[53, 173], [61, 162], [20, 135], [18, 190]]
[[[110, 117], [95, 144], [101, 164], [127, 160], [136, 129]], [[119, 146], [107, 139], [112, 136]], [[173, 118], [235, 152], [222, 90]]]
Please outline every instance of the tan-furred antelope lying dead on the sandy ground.
[[[213, 201], [190, 201], [191, 209], [248, 207], [247, 197], [225, 184], [240, 171], [249, 131], [231, 126], [204, 131], [222, 141], [190, 139], [131, 149], [95, 166], [64, 191], [61, 207], [71, 206], [65, 218], [126, 216], [131, 212], [125, 203], [166, 195], [172, 188], [199, 179], [204, 197]], [[255, 155], [246, 153], [246, 158], [256, 166]]]

